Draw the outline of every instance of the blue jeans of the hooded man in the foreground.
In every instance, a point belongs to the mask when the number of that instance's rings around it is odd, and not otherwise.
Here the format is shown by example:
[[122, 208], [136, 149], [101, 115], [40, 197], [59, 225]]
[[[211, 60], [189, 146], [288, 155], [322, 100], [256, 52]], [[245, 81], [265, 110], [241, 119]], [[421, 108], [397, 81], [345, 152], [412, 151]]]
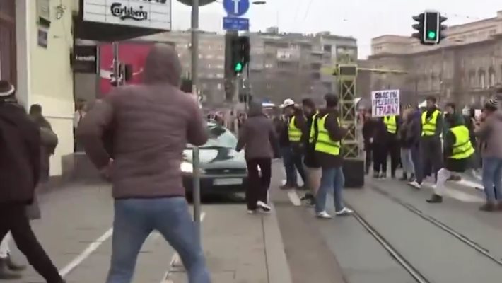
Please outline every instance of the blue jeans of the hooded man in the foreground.
[[211, 282], [188, 209], [185, 197], [115, 200], [112, 262], [106, 282], [131, 282], [139, 250], [153, 230], [180, 255], [190, 283]]

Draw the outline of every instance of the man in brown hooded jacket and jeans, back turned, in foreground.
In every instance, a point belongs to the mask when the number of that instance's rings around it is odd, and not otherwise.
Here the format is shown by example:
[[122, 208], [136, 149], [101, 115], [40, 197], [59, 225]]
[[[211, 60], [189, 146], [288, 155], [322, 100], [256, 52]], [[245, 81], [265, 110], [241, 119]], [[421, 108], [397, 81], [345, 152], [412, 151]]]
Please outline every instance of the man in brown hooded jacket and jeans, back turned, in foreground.
[[[115, 219], [107, 283], [131, 282], [141, 245], [153, 230], [180, 255], [189, 282], [210, 282], [181, 171], [187, 143], [205, 144], [208, 132], [198, 101], [180, 90], [181, 69], [173, 47], [154, 45], [143, 83], [115, 88], [77, 129], [95, 166], [112, 170]], [[113, 160], [103, 144], [106, 131], [112, 132]]]

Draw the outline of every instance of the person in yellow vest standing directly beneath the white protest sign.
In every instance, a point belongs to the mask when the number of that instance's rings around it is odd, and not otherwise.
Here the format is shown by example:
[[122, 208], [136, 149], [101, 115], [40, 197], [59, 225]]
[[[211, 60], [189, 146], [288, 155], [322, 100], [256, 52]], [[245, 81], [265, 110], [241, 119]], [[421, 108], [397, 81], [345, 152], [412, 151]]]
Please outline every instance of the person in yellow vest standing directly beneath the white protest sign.
[[398, 132], [401, 119], [397, 115], [385, 116], [382, 118], [387, 129], [387, 139], [385, 140], [385, 166], [382, 178], [387, 177], [387, 156], [390, 155], [390, 176], [396, 177], [396, 169], [399, 166], [399, 139]]

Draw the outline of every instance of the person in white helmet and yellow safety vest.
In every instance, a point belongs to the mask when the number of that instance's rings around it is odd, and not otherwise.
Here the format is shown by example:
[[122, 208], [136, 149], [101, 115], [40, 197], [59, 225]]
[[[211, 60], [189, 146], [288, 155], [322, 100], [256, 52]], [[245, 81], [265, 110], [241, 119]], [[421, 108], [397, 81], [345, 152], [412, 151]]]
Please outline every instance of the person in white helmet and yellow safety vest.
[[281, 156], [286, 171], [286, 184], [283, 190], [292, 190], [298, 187], [297, 173], [306, 184], [305, 170], [303, 168], [303, 143], [302, 134], [305, 132], [305, 117], [301, 109], [291, 99], [284, 100], [281, 105], [286, 116], [285, 125], [279, 133], [281, 143]]

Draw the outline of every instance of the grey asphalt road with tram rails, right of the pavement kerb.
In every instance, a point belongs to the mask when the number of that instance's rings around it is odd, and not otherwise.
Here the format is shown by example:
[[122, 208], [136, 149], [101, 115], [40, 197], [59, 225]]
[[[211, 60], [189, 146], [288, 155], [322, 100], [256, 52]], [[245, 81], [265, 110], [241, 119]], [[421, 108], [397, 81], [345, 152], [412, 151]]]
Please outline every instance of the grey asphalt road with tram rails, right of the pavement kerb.
[[315, 219], [313, 209], [296, 205], [303, 192], [276, 190], [294, 282], [501, 282], [502, 213], [480, 212], [484, 193], [471, 184], [448, 183], [443, 204], [428, 204], [431, 193], [431, 184], [414, 190], [370, 178], [365, 188], [344, 191], [382, 244], [355, 216]]

